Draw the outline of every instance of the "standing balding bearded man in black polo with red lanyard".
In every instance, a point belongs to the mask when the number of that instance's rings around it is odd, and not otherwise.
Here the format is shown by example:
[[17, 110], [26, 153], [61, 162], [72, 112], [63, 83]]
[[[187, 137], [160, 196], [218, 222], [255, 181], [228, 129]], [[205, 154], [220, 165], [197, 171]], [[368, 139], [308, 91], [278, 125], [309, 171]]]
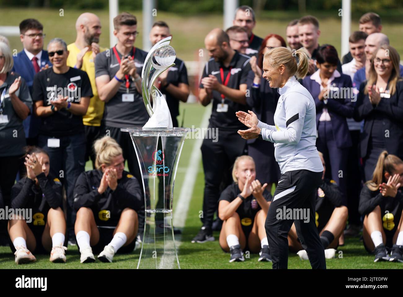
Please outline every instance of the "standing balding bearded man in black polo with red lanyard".
[[212, 223], [220, 198], [220, 184], [231, 183], [231, 166], [245, 153], [246, 140], [237, 131], [243, 129], [235, 112], [247, 111], [247, 74], [251, 70], [250, 57], [233, 50], [228, 35], [213, 29], [204, 40], [210, 60], [204, 67], [199, 86], [199, 100], [203, 106], [212, 102], [209, 128], [217, 138], [204, 139], [202, 144], [205, 175], [202, 229], [192, 242], [214, 241]]

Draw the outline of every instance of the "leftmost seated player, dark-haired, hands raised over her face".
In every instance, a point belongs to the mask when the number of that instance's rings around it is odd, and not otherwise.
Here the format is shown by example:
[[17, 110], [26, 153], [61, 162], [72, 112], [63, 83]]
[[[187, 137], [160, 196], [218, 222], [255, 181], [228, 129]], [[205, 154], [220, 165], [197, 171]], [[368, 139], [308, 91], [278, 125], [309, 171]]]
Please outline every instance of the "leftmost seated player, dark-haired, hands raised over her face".
[[[27, 147], [27, 176], [11, 189], [14, 218], [8, 221], [10, 247], [17, 264], [35, 262], [32, 253], [49, 253], [53, 263], [66, 262], [64, 244], [66, 221], [62, 210], [62, 184], [49, 174], [48, 153], [35, 146]], [[32, 211], [31, 211], [32, 209]]]

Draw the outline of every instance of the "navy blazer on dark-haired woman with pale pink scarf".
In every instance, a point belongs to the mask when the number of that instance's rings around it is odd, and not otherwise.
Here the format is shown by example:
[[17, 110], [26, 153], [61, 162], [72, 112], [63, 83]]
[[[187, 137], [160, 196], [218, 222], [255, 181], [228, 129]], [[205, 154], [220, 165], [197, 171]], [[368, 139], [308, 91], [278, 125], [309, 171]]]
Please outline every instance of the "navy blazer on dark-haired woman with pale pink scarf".
[[[322, 115], [323, 108], [328, 109], [330, 119], [332, 121], [333, 136], [336, 140], [336, 145], [338, 148], [348, 148], [352, 145], [351, 136], [349, 132], [349, 127], [347, 125], [347, 117], [353, 117], [354, 107], [351, 98], [353, 98], [351, 77], [346, 74], [342, 74], [340, 77], [334, 77], [332, 81], [332, 86], [334, 88], [330, 98], [327, 100], [327, 104], [323, 100], [319, 100], [318, 96], [320, 94], [320, 86], [311, 76], [307, 76], [302, 81], [303, 86], [311, 93], [315, 100], [316, 105], [316, 127], [319, 124], [320, 115]], [[337, 94], [337, 89], [349, 88], [349, 92], [344, 96], [344, 92], [339, 91]], [[347, 97], [347, 98], [340, 98]], [[350, 98], [351, 97], [351, 98]]]

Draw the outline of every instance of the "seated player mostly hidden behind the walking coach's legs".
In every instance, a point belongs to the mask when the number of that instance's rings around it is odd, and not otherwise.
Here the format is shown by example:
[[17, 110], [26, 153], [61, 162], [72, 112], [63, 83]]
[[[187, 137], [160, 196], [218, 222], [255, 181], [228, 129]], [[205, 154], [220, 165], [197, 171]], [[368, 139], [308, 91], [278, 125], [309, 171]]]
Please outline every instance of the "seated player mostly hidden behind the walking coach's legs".
[[[323, 155], [320, 152], [319, 157], [323, 164], [323, 175], [322, 183], [316, 195], [315, 218], [319, 237], [325, 250], [325, 257], [330, 259], [334, 257], [339, 245], [339, 237], [346, 226], [348, 209], [342, 205], [341, 191], [336, 182], [324, 178], [326, 166]], [[288, 233], [288, 246], [293, 252], [299, 251], [298, 255], [301, 259], [308, 259], [306, 251], [299, 242], [294, 224]]]

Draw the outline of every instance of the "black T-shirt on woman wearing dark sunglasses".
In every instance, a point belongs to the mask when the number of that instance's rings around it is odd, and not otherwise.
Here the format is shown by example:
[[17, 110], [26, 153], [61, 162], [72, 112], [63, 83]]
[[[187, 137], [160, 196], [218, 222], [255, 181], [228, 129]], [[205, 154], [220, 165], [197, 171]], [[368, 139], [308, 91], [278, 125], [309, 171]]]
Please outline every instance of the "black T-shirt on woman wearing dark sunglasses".
[[[35, 74], [32, 85], [32, 101], [43, 101], [44, 106], [57, 100], [58, 94], [65, 94], [71, 104], [79, 104], [82, 97], [93, 96], [91, 82], [87, 73], [80, 69], [69, 68], [66, 73], [55, 73], [53, 67]], [[78, 98], [80, 97], [80, 98]], [[84, 133], [83, 116], [73, 115], [66, 109], [41, 117], [39, 134], [62, 137]]]

